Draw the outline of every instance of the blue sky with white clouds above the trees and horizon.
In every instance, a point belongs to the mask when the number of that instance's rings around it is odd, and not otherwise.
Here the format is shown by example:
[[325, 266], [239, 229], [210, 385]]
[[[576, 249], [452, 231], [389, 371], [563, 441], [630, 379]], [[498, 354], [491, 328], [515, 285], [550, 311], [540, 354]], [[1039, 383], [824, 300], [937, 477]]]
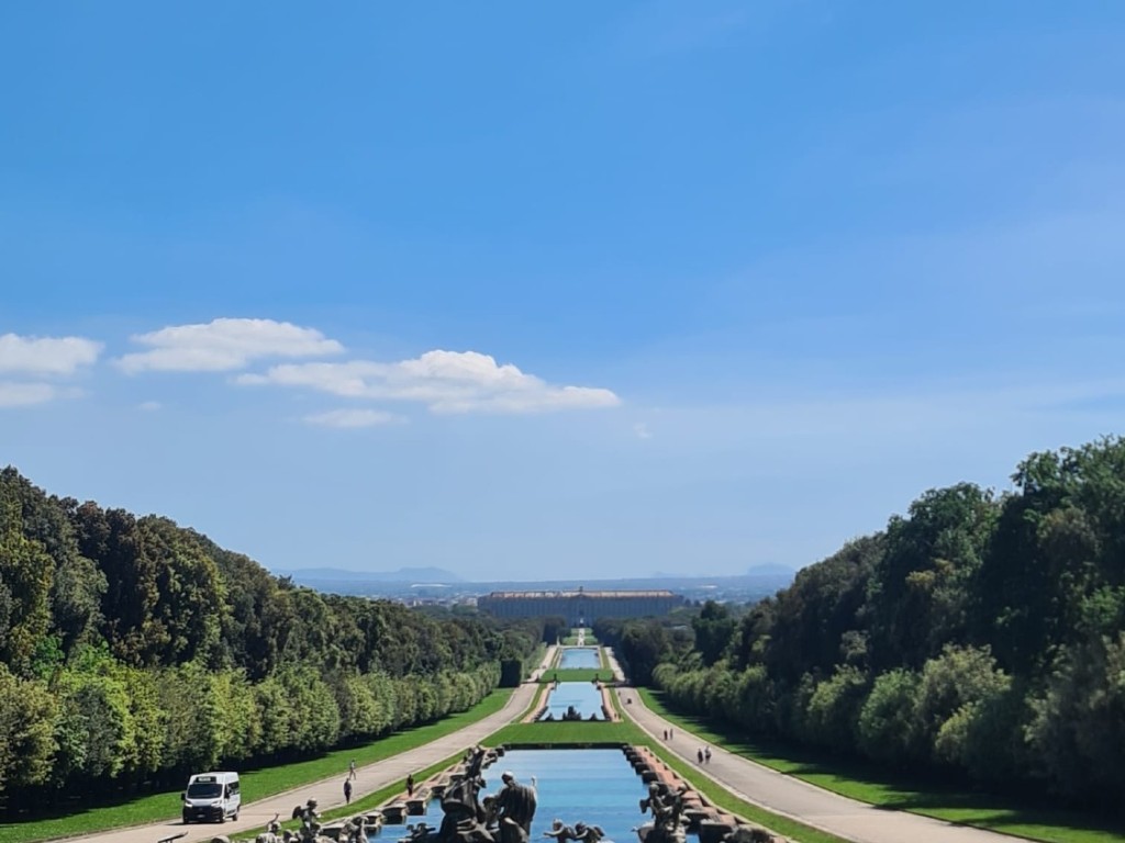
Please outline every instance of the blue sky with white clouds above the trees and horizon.
[[274, 570], [800, 568], [1120, 430], [1117, 2], [8, 3], [0, 463]]

